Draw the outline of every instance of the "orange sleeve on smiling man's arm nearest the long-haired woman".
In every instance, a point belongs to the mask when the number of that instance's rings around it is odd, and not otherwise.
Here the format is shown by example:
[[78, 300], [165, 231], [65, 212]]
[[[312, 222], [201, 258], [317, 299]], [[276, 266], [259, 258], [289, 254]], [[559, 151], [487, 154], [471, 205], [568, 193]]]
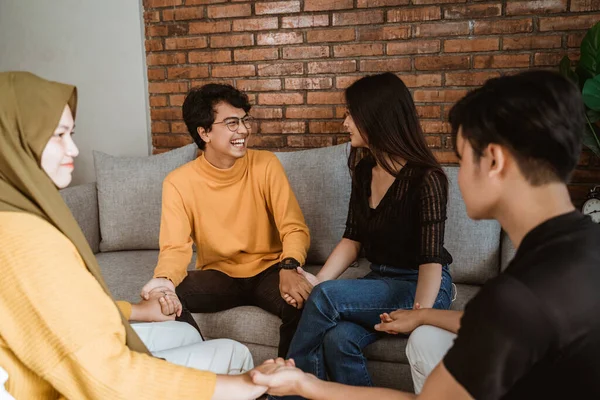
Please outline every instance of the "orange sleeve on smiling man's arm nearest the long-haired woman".
[[304, 265], [310, 246], [308, 226], [279, 159], [272, 155], [266, 170], [267, 205], [283, 244], [282, 259], [292, 257]]

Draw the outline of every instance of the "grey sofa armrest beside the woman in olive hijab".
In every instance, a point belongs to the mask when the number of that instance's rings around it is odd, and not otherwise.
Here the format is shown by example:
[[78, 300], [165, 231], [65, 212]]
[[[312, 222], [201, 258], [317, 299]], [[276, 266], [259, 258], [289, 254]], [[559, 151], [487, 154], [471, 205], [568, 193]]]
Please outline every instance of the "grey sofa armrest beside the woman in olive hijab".
[[71, 213], [81, 227], [94, 254], [100, 251], [100, 220], [96, 183], [86, 183], [60, 191]]

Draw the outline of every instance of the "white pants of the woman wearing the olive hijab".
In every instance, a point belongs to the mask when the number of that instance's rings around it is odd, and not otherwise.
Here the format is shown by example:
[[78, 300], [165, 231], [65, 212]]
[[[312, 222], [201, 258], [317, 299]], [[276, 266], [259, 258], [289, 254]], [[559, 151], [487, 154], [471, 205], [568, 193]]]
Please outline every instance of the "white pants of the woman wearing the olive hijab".
[[243, 374], [254, 368], [246, 346], [230, 339], [204, 342], [188, 323], [167, 321], [131, 326], [155, 357], [173, 364], [227, 375]]

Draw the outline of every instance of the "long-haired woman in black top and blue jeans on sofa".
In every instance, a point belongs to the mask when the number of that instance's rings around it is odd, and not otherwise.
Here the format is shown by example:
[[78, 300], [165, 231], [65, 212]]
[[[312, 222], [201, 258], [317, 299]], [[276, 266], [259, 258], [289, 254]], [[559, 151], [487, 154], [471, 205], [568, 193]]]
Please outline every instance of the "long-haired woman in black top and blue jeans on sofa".
[[[444, 248], [448, 180], [427, 147], [410, 92], [391, 73], [346, 90], [352, 194], [343, 239], [315, 276], [289, 358], [321, 379], [372, 386], [362, 349], [397, 309], [446, 309], [452, 299]], [[361, 249], [371, 272], [336, 280]], [[293, 304], [293, 299], [288, 298]]]

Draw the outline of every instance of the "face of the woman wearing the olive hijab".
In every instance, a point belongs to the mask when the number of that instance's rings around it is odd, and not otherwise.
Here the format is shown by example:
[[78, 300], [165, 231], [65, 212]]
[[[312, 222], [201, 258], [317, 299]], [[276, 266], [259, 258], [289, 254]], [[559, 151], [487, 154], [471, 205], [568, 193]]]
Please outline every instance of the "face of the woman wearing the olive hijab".
[[73, 114], [69, 106], [65, 106], [58, 126], [42, 152], [41, 167], [59, 189], [71, 183], [73, 160], [79, 155], [72, 138], [74, 128]]

